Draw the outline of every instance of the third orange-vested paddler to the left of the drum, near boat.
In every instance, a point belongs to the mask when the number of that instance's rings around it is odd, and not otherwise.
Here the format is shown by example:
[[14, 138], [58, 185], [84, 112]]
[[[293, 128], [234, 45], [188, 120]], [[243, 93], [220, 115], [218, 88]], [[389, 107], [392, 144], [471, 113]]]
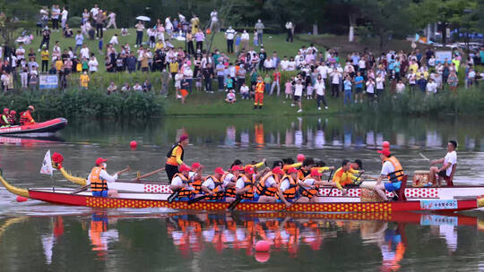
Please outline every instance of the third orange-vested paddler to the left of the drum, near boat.
[[261, 181], [255, 185], [254, 199], [263, 203], [275, 203], [277, 201], [276, 194], [281, 193], [279, 181], [284, 174], [279, 166], [264, 174]]

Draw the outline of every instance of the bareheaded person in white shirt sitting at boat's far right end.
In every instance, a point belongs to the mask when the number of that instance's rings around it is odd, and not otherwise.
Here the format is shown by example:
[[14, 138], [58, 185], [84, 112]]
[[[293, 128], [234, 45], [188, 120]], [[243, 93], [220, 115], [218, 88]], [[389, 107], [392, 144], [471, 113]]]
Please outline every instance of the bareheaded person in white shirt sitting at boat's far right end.
[[[428, 183], [437, 183], [440, 187], [443, 178], [450, 178], [452, 168], [457, 164], [457, 153], [455, 149], [457, 149], [457, 142], [455, 140], [449, 140], [445, 157], [430, 162], [432, 166], [430, 167]], [[436, 164], [442, 164], [442, 167], [433, 166]], [[438, 176], [437, 179], [436, 175]]]

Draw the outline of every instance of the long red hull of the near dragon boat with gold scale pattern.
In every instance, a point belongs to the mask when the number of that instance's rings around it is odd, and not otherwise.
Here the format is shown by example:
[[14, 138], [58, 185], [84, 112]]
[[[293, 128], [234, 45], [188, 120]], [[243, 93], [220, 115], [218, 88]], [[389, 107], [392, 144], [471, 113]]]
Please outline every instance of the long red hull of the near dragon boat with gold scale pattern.
[[[19, 196], [32, 200], [41, 200], [49, 203], [91, 208], [174, 208], [189, 210], [226, 210], [229, 202], [195, 202], [166, 200], [167, 194], [122, 192], [117, 198], [94, 197], [90, 191], [76, 192], [66, 188], [30, 188], [21, 189], [4, 180], [0, 174], [0, 182], [4, 187]], [[445, 211], [454, 212], [484, 207], [484, 198], [462, 200], [402, 200], [391, 202], [320, 202], [320, 203], [294, 203], [289, 208], [281, 203], [257, 203], [252, 201], [240, 202], [238, 210], [247, 212], [400, 212], [400, 211]]]

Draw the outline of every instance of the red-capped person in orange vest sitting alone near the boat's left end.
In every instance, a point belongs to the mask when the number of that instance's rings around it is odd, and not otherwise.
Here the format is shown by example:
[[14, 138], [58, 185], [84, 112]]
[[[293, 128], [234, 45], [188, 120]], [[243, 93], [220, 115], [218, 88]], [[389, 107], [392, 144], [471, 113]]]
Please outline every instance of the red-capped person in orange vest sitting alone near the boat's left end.
[[120, 174], [117, 172], [114, 175], [108, 174], [106, 168], [108, 165], [106, 162], [108, 159], [98, 157], [96, 159], [96, 166], [94, 166], [91, 170], [91, 174], [88, 177], [88, 184], [91, 184], [91, 192], [92, 195], [95, 197], [103, 197], [103, 198], [117, 198], [118, 194], [116, 190], [109, 190], [108, 183], [114, 183], [117, 180], [117, 175]]

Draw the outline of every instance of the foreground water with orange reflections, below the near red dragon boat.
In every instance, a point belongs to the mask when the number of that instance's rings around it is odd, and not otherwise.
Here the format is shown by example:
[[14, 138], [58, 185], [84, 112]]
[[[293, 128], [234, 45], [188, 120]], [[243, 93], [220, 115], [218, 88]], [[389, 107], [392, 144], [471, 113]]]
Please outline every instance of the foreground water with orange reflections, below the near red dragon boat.
[[[281, 213], [123, 214], [96, 210], [81, 216], [0, 219], [0, 262], [7, 271], [11, 267], [6, 260], [13, 257], [24, 262], [25, 269], [48, 266], [47, 270], [59, 270], [66, 260], [80, 258], [86, 269], [94, 268], [89, 264], [95, 261], [92, 264], [104, 264], [97, 267], [101, 271], [134, 270], [136, 261], [128, 261], [134, 256], [145, 255], [140, 259], [145, 261], [163, 254], [165, 266], [175, 270], [183, 268], [187, 259], [191, 260], [194, 270], [210, 267], [216, 259], [219, 265], [231, 261], [244, 270], [270, 271], [282, 265], [283, 271], [315, 266], [397, 271], [423, 269], [422, 263], [427, 259], [437, 258], [441, 259], [442, 268], [445, 262], [465, 259], [460, 267], [465, 269], [480, 266], [478, 249], [484, 244], [476, 237], [480, 235], [479, 230], [484, 231], [483, 223], [477, 217], [454, 214], [288, 216]], [[30, 254], [19, 253], [23, 249], [16, 244], [25, 239], [31, 241], [32, 248], [36, 247], [35, 241], [41, 243], [42, 263]], [[259, 241], [268, 242], [270, 251], [255, 251]], [[125, 261], [121, 261], [123, 258]], [[257, 263], [264, 263], [264, 267], [257, 267]], [[155, 269], [146, 263], [143, 266]]]

